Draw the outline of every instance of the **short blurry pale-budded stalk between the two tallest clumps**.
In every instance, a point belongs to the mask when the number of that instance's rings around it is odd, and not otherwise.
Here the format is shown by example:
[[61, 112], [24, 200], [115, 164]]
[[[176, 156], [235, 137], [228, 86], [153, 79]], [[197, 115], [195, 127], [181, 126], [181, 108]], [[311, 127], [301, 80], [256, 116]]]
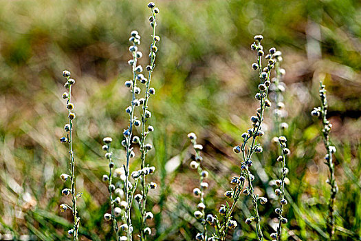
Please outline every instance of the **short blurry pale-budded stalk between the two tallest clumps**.
[[199, 174], [199, 187], [195, 187], [195, 189], [193, 189], [193, 195], [196, 198], [199, 198], [197, 211], [194, 212], [194, 216], [201, 221], [204, 229], [202, 233], [197, 233], [195, 240], [207, 240], [207, 222], [212, 224], [214, 221], [212, 215], [208, 215], [206, 219], [206, 215], [204, 213], [204, 209], [206, 209], [206, 204], [204, 203], [204, 190], [208, 188], [208, 182], [204, 182], [204, 178], [208, 177], [208, 171], [201, 167], [201, 161], [203, 160], [201, 157], [201, 150], [203, 149], [203, 146], [197, 144], [197, 136], [191, 132], [188, 134], [188, 138], [193, 145], [193, 149], [195, 149], [195, 160], [190, 162], [190, 168], [196, 169]]

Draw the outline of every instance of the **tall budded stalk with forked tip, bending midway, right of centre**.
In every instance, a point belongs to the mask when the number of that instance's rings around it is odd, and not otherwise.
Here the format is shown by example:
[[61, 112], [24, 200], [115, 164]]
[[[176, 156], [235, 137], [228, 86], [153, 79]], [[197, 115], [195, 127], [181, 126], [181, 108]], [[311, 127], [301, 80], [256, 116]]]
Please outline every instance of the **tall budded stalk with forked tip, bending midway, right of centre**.
[[[251, 224], [253, 221], [256, 222], [256, 235], [258, 240], [263, 240], [263, 233], [261, 229], [261, 217], [259, 216], [258, 203], [264, 205], [267, 202], [267, 198], [259, 197], [254, 193], [253, 180], [254, 176], [250, 171], [250, 167], [252, 167], [252, 155], [254, 153], [262, 153], [263, 148], [259, 143], [257, 143], [256, 138], [264, 135], [262, 131], [262, 123], [263, 116], [265, 112], [265, 108], [271, 106], [271, 102], [267, 99], [268, 91], [271, 85], [270, 75], [271, 71], [274, 68], [274, 64], [276, 63], [276, 59], [274, 54], [276, 53], [275, 48], [271, 48], [269, 50], [269, 54], [265, 56], [267, 60], [267, 65], [265, 67], [262, 66], [262, 57], [265, 54], [263, 52], [263, 46], [261, 45], [261, 41], [263, 40], [263, 36], [256, 35], [254, 36], [255, 42], [252, 43], [251, 49], [256, 51], [258, 59], [256, 63], [252, 64], [252, 68], [254, 70], [259, 70], [259, 93], [256, 94], [255, 98], [260, 103], [260, 107], [256, 111], [256, 115], [250, 118], [252, 123], [252, 127], [248, 129], [247, 132], [242, 134], [243, 143], [241, 146], [237, 145], [234, 147], [234, 152], [237, 154], [241, 154], [241, 176], [243, 176], [248, 181], [248, 187], [245, 187], [243, 193], [245, 195], [250, 195], [252, 198], [253, 212], [254, 216], [247, 218], [245, 222], [247, 224]], [[249, 147], [248, 147], [249, 144]]]

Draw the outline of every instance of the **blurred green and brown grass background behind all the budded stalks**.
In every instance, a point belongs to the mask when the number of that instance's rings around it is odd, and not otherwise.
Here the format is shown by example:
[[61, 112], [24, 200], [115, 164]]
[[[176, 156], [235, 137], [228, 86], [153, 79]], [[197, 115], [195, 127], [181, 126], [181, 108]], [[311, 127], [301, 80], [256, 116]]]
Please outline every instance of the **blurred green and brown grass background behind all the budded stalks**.
[[[0, 233], [3, 240], [66, 240], [70, 213], [58, 208], [67, 169], [67, 149], [58, 138], [67, 120], [65, 69], [76, 79], [74, 145], [82, 240], [113, 240], [102, 218], [109, 209], [107, 170], [101, 140], [115, 142], [117, 165], [124, 162], [120, 146], [127, 127], [125, 107], [131, 78], [128, 39], [142, 36], [146, 65], [150, 34], [147, 1], [1, 0], [0, 8]], [[250, 65], [254, 34], [264, 47], [283, 52], [286, 69], [285, 133], [292, 155], [287, 185], [289, 223], [285, 240], [325, 240], [329, 186], [323, 164], [320, 125], [309, 116], [320, 105], [319, 81], [327, 85], [331, 138], [336, 145], [336, 240], [360, 240], [361, 230], [361, 3], [351, 0], [305, 1], [156, 1], [161, 36], [151, 98], [155, 132], [149, 162], [157, 167], [152, 180], [151, 240], [193, 240], [201, 229], [192, 213], [190, 195], [197, 174], [188, 168], [191, 151], [186, 134], [195, 132], [204, 144], [204, 166], [210, 171], [207, 212], [226, 200], [229, 179], [239, 172], [232, 147], [248, 129], [257, 107], [257, 76]], [[272, 127], [272, 112], [265, 122]], [[276, 148], [267, 132], [262, 143], [270, 154], [255, 160], [257, 193], [270, 201], [261, 207], [266, 240], [275, 218], [270, 180], [276, 178]], [[264, 148], [266, 149], [266, 148]], [[135, 160], [131, 169], [137, 169]], [[244, 223], [250, 216], [248, 197], [234, 212], [239, 227], [230, 240], [254, 240]], [[138, 223], [135, 221], [135, 230]]]

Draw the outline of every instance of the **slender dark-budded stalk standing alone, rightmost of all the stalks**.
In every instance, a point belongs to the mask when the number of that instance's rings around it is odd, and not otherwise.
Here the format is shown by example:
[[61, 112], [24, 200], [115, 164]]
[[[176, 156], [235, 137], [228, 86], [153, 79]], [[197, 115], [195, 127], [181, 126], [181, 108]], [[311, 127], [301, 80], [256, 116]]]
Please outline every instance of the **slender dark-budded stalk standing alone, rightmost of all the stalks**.
[[311, 115], [312, 116], [318, 116], [318, 118], [322, 121], [322, 136], [323, 136], [323, 143], [325, 145], [325, 148], [327, 150], [327, 154], [325, 155], [325, 164], [327, 167], [329, 167], [329, 179], [327, 180], [327, 183], [331, 186], [331, 196], [329, 198], [329, 216], [327, 218], [327, 232], [329, 233], [329, 240], [333, 239], [333, 235], [335, 233], [335, 202], [336, 202], [336, 194], [338, 192], [338, 187], [336, 183], [335, 178], [335, 166], [333, 164], [333, 154], [336, 152], [336, 147], [331, 145], [331, 142], [329, 140], [329, 133], [331, 132], [332, 124], [327, 120], [327, 109], [328, 109], [328, 103], [327, 103], [327, 95], [326, 95], [326, 89], [325, 85], [320, 82], [320, 99], [321, 99], [321, 106], [315, 107]]

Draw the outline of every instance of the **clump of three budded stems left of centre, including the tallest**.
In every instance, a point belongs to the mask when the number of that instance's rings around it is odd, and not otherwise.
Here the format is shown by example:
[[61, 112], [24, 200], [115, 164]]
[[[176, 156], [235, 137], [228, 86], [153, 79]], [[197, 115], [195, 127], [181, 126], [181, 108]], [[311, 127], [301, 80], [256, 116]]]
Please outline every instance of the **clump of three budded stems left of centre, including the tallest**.
[[[129, 126], [127, 129], [124, 129], [123, 136], [124, 139], [122, 140], [122, 146], [125, 147], [126, 150], [126, 163], [121, 167], [124, 174], [121, 174], [124, 189], [124, 201], [120, 201], [120, 207], [124, 209], [122, 220], [124, 220], [124, 224], [120, 226], [120, 230], [118, 229], [118, 224], [116, 220], [117, 207], [111, 207], [111, 213], [106, 213], [105, 219], [111, 220], [113, 219], [113, 229], [116, 231], [116, 235], [118, 240], [132, 240], [133, 238], [133, 225], [131, 220], [131, 208], [133, 207], [133, 201], [135, 200], [138, 203], [138, 207], [140, 209], [140, 213], [142, 217], [140, 218], [140, 240], [146, 240], [147, 235], [151, 235], [151, 228], [147, 227], [146, 220], [153, 219], [153, 213], [150, 211], [146, 211], [146, 200], [148, 198], [149, 190], [156, 189], [157, 184], [155, 182], [146, 182], [146, 176], [149, 174], [153, 174], [155, 171], [155, 167], [150, 167], [149, 164], [146, 164], [146, 154], [153, 149], [153, 145], [151, 143], [146, 143], [146, 136], [148, 136], [151, 132], [154, 131], [154, 127], [148, 125], [148, 121], [151, 118], [152, 114], [148, 109], [149, 98], [155, 94], [155, 89], [151, 87], [151, 77], [153, 70], [155, 68], [155, 56], [157, 52], [157, 42], [160, 41], [160, 37], [155, 35], [155, 27], [157, 13], [160, 12], [158, 8], [155, 8], [155, 3], [151, 2], [148, 4], [148, 7], [151, 9], [151, 17], [149, 17], [150, 25], [152, 28], [152, 41], [150, 46], [150, 53], [149, 59], [150, 63], [146, 66], [146, 70], [148, 71], [148, 77], [146, 78], [143, 72], [142, 65], [138, 65], [138, 59], [142, 58], [142, 52], [138, 51], [138, 45], [140, 45], [140, 35], [138, 31], [133, 30], [131, 32], [131, 36], [129, 41], [132, 45], [129, 47], [129, 51], [132, 54], [132, 59], [128, 61], [129, 65], [132, 67], [133, 72], [133, 79], [129, 81], [125, 81], [125, 86], [130, 89], [131, 92], [131, 105], [125, 109], [125, 112], [129, 114]], [[145, 94], [144, 98], [138, 98], [141, 93], [140, 87], [137, 86], [138, 83], [145, 85]], [[141, 107], [140, 114], [141, 118], [138, 119], [135, 116], [135, 109], [136, 107]], [[135, 127], [140, 127], [140, 136], [135, 136]], [[109, 140], [105, 138], [106, 141]], [[130, 163], [131, 158], [135, 157], [135, 151], [133, 144], [140, 145], [140, 159], [141, 159], [141, 166], [138, 171], [133, 171], [131, 175], [129, 174], [130, 171]], [[103, 149], [109, 150], [109, 146], [103, 146]], [[106, 156], [109, 155], [111, 158], [111, 152], [107, 152]], [[107, 157], [109, 159], [109, 156]], [[115, 187], [111, 188], [111, 168], [113, 167], [113, 163], [111, 159], [109, 160], [109, 191], [114, 191]], [[110, 167], [110, 165], [112, 167]], [[133, 178], [133, 183], [130, 180], [130, 177]], [[140, 193], [135, 194], [137, 191], [138, 185], [141, 186]], [[113, 203], [112, 196], [109, 196], [111, 204]], [[126, 232], [127, 236], [120, 236], [119, 231]]]

